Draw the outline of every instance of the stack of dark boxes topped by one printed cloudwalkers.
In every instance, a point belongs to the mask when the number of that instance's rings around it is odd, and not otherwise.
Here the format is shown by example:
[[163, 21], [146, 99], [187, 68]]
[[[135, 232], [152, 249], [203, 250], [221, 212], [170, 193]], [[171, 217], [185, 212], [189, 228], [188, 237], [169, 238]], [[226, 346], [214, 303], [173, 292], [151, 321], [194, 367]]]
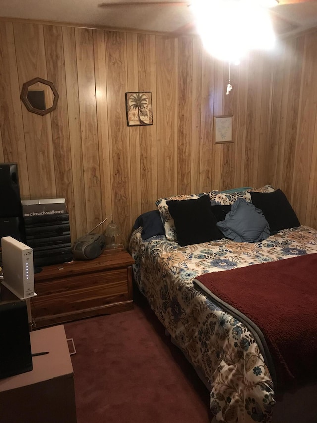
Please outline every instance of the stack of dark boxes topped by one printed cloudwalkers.
[[33, 249], [34, 266], [73, 259], [69, 214], [64, 198], [22, 200], [26, 244]]

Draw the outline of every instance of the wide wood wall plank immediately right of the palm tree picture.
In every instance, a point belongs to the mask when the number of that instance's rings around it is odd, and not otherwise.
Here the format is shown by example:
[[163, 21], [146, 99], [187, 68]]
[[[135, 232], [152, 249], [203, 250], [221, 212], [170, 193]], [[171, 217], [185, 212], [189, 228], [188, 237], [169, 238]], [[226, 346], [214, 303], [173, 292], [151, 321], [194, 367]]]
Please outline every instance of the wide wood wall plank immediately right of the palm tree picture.
[[158, 36], [158, 196], [177, 194], [177, 39]]

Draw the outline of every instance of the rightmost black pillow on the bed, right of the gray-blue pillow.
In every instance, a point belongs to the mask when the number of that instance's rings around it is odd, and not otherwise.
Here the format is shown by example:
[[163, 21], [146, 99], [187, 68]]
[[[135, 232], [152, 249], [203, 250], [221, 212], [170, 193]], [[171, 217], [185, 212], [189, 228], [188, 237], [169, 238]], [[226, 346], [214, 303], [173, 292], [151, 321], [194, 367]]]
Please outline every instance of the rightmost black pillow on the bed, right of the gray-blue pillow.
[[280, 189], [274, 192], [250, 191], [250, 195], [252, 204], [262, 210], [271, 234], [301, 225], [286, 195]]

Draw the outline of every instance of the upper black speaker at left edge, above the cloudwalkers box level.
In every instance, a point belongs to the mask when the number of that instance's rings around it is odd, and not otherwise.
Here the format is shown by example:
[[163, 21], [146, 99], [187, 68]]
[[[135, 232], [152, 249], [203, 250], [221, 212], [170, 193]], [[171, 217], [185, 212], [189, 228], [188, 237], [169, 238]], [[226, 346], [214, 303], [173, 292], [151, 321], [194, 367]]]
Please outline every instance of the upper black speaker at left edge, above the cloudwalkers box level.
[[0, 163], [0, 217], [22, 216], [17, 163]]

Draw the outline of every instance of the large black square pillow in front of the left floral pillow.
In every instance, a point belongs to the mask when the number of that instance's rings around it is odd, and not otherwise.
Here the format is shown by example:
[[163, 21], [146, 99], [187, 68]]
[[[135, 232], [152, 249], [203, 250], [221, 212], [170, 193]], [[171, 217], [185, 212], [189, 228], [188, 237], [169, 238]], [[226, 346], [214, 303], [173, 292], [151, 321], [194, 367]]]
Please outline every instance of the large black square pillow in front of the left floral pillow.
[[223, 238], [211, 211], [209, 195], [195, 200], [169, 200], [166, 204], [174, 219], [177, 241], [181, 247]]

